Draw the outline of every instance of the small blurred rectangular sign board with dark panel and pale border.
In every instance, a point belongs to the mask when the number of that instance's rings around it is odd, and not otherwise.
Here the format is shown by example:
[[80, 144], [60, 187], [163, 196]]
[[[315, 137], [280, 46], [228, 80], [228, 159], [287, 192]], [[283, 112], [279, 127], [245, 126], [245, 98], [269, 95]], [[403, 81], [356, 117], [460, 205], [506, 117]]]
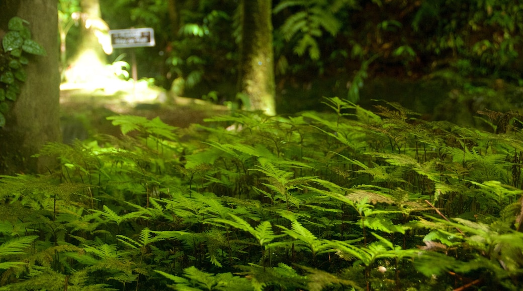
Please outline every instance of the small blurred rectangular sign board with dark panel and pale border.
[[109, 30], [113, 48], [154, 46], [152, 28], [131, 28]]

